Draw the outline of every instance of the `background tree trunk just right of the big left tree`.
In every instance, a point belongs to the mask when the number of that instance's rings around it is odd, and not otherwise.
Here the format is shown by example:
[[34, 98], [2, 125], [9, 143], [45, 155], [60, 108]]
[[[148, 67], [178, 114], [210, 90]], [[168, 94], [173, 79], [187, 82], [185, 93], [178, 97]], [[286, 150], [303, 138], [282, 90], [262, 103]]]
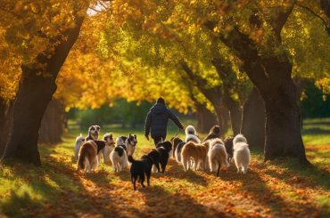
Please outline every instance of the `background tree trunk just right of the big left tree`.
[[39, 143], [56, 144], [62, 141], [64, 108], [59, 101], [52, 100], [45, 109], [39, 129]]

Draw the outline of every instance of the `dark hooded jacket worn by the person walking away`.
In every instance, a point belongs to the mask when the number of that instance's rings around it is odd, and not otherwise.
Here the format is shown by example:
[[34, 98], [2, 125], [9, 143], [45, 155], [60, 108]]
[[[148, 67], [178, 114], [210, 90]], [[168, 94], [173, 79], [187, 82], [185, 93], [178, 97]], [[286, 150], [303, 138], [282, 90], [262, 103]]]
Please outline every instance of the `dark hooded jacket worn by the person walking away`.
[[152, 138], [157, 136], [166, 136], [169, 118], [177, 125], [178, 128], [183, 129], [183, 125], [164, 104], [157, 103], [150, 109], [145, 120], [144, 134], [152, 133]]

